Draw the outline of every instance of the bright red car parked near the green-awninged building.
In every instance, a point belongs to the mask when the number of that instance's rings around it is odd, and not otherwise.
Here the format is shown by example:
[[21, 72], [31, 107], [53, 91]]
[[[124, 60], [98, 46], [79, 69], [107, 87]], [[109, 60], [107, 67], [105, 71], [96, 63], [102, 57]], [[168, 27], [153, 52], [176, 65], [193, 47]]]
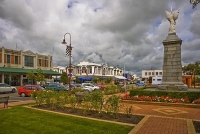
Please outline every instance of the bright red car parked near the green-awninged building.
[[40, 90], [44, 90], [44, 88], [41, 87], [40, 85], [25, 85], [25, 86], [21, 86], [18, 89], [18, 94], [21, 97], [30, 96], [30, 93], [34, 90], [40, 91]]

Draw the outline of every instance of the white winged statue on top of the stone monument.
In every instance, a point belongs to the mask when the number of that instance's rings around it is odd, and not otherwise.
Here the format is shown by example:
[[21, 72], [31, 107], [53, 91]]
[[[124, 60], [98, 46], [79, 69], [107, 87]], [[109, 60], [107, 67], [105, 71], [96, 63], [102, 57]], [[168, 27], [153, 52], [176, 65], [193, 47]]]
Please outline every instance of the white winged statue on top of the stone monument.
[[179, 10], [180, 9], [178, 9], [178, 10], [176, 10], [174, 12], [165, 11], [166, 18], [170, 23], [169, 34], [176, 33], [174, 26], [176, 25], [176, 20], [178, 19]]

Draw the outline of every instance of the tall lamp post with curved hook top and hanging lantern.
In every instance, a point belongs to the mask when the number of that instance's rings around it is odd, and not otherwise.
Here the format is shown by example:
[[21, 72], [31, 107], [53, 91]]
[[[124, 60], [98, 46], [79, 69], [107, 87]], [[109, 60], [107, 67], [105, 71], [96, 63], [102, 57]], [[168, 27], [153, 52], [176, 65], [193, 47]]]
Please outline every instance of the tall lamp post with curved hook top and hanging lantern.
[[72, 46], [71, 46], [71, 34], [70, 33], [65, 33], [64, 34], [64, 39], [62, 41], [62, 44], [67, 44], [67, 42], [65, 41], [65, 35], [68, 34], [70, 37], [70, 44], [69, 46], [66, 45], [66, 55], [69, 56], [69, 90], [71, 90], [71, 77], [72, 77], [72, 63], [71, 63], [71, 57], [72, 57]]

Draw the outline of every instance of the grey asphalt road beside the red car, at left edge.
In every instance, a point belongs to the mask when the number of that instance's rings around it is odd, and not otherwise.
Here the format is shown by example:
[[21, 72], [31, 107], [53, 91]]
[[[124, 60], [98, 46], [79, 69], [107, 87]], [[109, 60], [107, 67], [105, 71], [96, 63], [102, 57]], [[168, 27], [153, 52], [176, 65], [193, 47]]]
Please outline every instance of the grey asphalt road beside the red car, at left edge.
[[9, 96], [9, 102], [16, 102], [16, 101], [25, 101], [25, 100], [32, 100], [31, 97], [21, 97], [18, 93], [0, 93], [0, 97], [2, 96]]

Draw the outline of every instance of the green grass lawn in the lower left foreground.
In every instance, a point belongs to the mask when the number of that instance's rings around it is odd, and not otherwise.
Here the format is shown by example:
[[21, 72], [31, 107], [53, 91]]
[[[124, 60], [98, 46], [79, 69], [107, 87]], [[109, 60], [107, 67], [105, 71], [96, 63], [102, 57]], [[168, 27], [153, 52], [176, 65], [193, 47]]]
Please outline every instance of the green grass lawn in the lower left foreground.
[[127, 134], [132, 128], [23, 106], [0, 110], [0, 134]]

